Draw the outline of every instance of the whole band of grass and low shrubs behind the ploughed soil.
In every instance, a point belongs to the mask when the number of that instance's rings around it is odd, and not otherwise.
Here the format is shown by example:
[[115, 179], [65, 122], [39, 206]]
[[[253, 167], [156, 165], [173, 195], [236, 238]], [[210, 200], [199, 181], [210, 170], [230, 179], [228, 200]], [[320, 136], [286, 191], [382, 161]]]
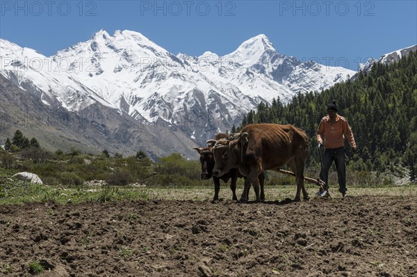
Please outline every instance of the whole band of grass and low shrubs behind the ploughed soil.
[[[24, 153], [23, 153], [24, 154]], [[199, 161], [190, 161], [174, 153], [158, 162], [147, 158], [113, 157], [74, 154], [49, 154], [42, 161], [25, 157], [22, 152], [0, 151], [0, 204], [22, 203], [85, 203], [124, 200], [202, 200], [211, 201], [214, 189], [212, 180], [200, 180]], [[12, 176], [28, 171], [40, 176], [44, 184], [30, 184]], [[305, 176], [318, 177], [318, 166], [306, 168]], [[409, 181], [407, 171], [395, 175], [347, 168], [348, 195], [417, 196], [416, 182]], [[86, 182], [102, 180], [104, 187], [88, 186]], [[130, 184], [140, 184], [131, 186]], [[231, 200], [229, 184], [221, 182], [220, 198]], [[330, 194], [340, 198], [336, 171], [329, 173]], [[243, 179], [238, 179], [240, 197]], [[311, 197], [318, 187], [306, 183]], [[265, 172], [265, 199], [267, 201], [294, 198], [295, 177], [274, 171]], [[254, 200], [250, 190], [249, 200]]]

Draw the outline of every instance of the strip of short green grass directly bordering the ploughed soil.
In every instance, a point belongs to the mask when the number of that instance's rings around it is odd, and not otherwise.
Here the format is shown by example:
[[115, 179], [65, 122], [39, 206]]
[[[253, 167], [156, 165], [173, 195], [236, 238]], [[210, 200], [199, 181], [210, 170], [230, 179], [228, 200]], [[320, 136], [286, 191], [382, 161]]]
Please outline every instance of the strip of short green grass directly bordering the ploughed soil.
[[[20, 205], [23, 203], [42, 203], [56, 201], [60, 204], [107, 202], [125, 200], [197, 200], [210, 201], [213, 198], [214, 189], [211, 180], [202, 182], [199, 186], [156, 186], [156, 187], [63, 187], [44, 184], [31, 184], [13, 180], [9, 177], [1, 177], [0, 180], [0, 205]], [[314, 197], [318, 187], [306, 184], [307, 191]], [[243, 182], [239, 180], [236, 191], [238, 197], [242, 193]], [[266, 200], [284, 200], [294, 198], [295, 185], [266, 185]], [[333, 198], [340, 198], [341, 194], [335, 186], [331, 186], [329, 192]], [[408, 184], [398, 187], [348, 187], [350, 196], [417, 196], [417, 186]], [[231, 200], [229, 184], [220, 187], [220, 198]], [[250, 200], [254, 200], [254, 192], [251, 188]]]

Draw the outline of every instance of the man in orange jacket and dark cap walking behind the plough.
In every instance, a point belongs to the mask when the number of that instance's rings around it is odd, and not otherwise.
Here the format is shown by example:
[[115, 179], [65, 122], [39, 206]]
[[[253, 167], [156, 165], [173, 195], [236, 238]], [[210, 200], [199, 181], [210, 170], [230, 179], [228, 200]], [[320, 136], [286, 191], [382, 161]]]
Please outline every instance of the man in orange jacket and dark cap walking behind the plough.
[[[339, 191], [342, 198], [346, 196], [346, 164], [345, 164], [345, 136], [352, 147], [353, 153], [357, 152], [357, 145], [354, 142], [352, 129], [350, 129], [347, 120], [337, 113], [336, 101], [330, 101], [327, 105], [328, 116], [322, 118], [317, 129], [317, 141], [323, 145], [323, 135], [325, 153], [322, 155], [322, 170], [320, 171], [320, 179], [326, 183], [328, 188], [329, 169], [332, 162], [336, 164], [337, 179]], [[344, 136], [345, 135], [345, 136]]]

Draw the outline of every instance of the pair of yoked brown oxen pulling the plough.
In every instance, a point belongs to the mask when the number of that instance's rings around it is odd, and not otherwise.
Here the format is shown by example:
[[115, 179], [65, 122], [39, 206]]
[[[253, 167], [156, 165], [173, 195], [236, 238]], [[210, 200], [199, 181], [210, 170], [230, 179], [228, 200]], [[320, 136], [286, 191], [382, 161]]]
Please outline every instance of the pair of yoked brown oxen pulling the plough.
[[[301, 200], [301, 191], [304, 200], [309, 199], [304, 187], [304, 179], [316, 184], [319, 182], [304, 177], [308, 138], [302, 129], [293, 125], [247, 125], [240, 133], [217, 134], [215, 139], [208, 140], [207, 143], [207, 147], [194, 147], [194, 149], [200, 155], [202, 179], [213, 178], [213, 202], [219, 199], [220, 180], [227, 182], [229, 179], [231, 179], [230, 189], [233, 200], [238, 200], [236, 196], [238, 177], [245, 177], [241, 203], [247, 202], [251, 184], [254, 187], [256, 201], [265, 200], [263, 172], [267, 170], [295, 175], [297, 180], [295, 201]], [[284, 165], [288, 165], [292, 172], [281, 169]]]

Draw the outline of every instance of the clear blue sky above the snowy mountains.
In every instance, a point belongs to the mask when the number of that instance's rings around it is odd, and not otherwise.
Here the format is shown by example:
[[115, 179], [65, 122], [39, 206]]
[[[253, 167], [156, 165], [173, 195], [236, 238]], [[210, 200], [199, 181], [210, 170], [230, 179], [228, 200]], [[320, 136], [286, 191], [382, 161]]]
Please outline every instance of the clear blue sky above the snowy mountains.
[[100, 29], [192, 56], [228, 54], [263, 33], [281, 54], [356, 70], [417, 44], [417, 1], [0, 1], [0, 38], [46, 56]]

